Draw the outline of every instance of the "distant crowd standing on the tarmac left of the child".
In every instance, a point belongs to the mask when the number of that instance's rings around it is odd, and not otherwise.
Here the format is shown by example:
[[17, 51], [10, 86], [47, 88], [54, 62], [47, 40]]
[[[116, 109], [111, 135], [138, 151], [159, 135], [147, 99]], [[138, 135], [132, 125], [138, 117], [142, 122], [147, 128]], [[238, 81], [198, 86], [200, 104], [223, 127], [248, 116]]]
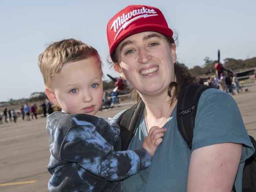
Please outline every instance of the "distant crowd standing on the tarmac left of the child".
[[[58, 111], [58, 109], [57, 109]], [[46, 117], [46, 114], [51, 114], [54, 112], [52, 107], [52, 103], [48, 102], [45, 103], [44, 101], [38, 107], [36, 103], [32, 105], [21, 105], [20, 109], [17, 111], [15, 109], [7, 109], [5, 108], [4, 111], [0, 111], [0, 124], [3, 122], [17, 122], [17, 118], [20, 116], [22, 120], [31, 121], [32, 119], [37, 119], [38, 115], [41, 114], [41, 117]]]

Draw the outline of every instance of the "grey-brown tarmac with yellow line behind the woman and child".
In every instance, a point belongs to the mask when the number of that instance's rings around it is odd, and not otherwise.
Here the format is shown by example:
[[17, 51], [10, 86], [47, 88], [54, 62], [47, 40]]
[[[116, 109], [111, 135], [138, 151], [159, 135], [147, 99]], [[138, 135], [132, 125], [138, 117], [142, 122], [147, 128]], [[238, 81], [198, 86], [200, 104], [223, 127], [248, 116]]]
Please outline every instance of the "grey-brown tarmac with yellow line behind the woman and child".
[[[256, 87], [233, 96], [242, 114], [249, 135], [256, 138]], [[127, 109], [122, 105], [100, 111], [97, 116], [113, 117]], [[17, 123], [0, 124], [0, 191], [48, 192], [51, 175], [46, 167], [49, 162], [46, 118]]]

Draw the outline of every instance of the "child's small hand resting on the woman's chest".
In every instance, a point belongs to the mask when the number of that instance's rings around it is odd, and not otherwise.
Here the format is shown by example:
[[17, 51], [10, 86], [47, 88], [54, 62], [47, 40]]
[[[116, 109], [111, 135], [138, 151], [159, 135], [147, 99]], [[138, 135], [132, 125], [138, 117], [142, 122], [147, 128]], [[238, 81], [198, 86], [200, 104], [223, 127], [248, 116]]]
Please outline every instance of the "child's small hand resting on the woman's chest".
[[144, 139], [142, 147], [150, 153], [153, 157], [156, 148], [163, 141], [163, 132], [166, 131], [166, 128], [160, 128], [158, 126], [151, 127], [149, 130], [148, 136]]

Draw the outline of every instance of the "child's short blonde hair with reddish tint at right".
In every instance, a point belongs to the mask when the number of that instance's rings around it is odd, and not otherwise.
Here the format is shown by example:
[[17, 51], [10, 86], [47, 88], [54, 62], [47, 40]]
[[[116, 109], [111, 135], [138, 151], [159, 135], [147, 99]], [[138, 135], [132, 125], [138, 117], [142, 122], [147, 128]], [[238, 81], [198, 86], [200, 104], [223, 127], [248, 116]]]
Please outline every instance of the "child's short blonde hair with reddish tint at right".
[[65, 63], [79, 61], [88, 57], [96, 57], [102, 65], [97, 50], [82, 41], [63, 39], [50, 44], [38, 57], [38, 66], [43, 74], [45, 87], [50, 87], [52, 77], [60, 72]]

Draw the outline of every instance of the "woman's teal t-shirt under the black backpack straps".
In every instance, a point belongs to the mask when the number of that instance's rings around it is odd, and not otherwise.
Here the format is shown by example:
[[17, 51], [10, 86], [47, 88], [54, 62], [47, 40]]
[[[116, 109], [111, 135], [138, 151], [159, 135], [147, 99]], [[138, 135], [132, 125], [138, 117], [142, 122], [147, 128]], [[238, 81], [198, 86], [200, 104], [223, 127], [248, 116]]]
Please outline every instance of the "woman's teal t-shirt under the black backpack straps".
[[[118, 119], [121, 113], [114, 119]], [[178, 131], [176, 107], [165, 126], [167, 131], [158, 146], [151, 165], [123, 181], [124, 192], [186, 192], [191, 152], [198, 148], [233, 142], [243, 144], [242, 156], [236, 175], [236, 191], [241, 192], [245, 159], [254, 152], [252, 143], [234, 99], [217, 89], [205, 90], [198, 102], [192, 150]], [[128, 149], [142, 145], [147, 136], [144, 116]]]

